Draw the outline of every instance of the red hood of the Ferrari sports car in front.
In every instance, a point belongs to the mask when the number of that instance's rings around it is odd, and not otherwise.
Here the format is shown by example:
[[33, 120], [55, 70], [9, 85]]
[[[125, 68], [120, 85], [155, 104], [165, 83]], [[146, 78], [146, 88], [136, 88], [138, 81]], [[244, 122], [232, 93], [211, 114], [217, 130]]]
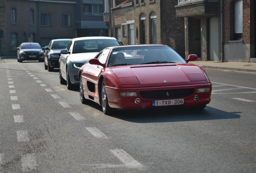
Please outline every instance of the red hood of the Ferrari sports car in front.
[[[207, 82], [206, 75], [194, 64], [151, 64], [110, 68], [122, 84], [168, 84]], [[136, 82], [136, 77], [137, 82]]]

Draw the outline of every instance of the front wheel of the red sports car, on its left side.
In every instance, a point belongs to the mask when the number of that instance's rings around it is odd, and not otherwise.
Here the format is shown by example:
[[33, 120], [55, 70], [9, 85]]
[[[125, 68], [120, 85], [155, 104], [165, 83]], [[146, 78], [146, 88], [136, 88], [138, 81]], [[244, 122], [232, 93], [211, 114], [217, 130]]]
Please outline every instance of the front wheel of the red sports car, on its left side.
[[101, 82], [101, 108], [102, 108], [102, 112], [105, 115], [109, 115], [113, 112], [113, 109], [108, 105], [106, 84], [104, 79]]

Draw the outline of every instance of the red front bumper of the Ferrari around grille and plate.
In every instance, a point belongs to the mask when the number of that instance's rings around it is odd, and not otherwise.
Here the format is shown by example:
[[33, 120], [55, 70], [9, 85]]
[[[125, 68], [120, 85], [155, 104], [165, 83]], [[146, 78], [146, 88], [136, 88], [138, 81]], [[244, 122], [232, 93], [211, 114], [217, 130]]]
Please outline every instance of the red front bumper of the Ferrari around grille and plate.
[[[171, 106], [157, 106], [157, 107], [173, 107], [173, 106], [200, 106], [206, 105], [211, 101], [211, 91], [206, 93], [197, 93], [197, 89], [211, 87], [211, 83], [207, 84], [194, 84], [194, 85], [181, 85], [181, 86], [169, 86], [169, 87], [148, 87], [148, 88], [128, 88], [119, 89], [113, 87], [106, 87], [108, 104], [111, 108], [115, 109], [148, 109], [152, 106], [154, 100], [172, 100], [172, 99], [184, 99], [183, 105], [171, 105]], [[171, 89], [191, 89], [194, 88], [194, 93], [188, 97], [168, 98], [168, 99], [145, 99], [141, 97], [141, 91], [159, 91], [159, 90], [171, 90]], [[136, 92], [136, 97], [121, 97], [120, 92]], [[194, 95], [198, 95], [199, 99], [194, 100]], [[140, 99], [140, 103], [136, 104], [134, 101], [136, 98]]]

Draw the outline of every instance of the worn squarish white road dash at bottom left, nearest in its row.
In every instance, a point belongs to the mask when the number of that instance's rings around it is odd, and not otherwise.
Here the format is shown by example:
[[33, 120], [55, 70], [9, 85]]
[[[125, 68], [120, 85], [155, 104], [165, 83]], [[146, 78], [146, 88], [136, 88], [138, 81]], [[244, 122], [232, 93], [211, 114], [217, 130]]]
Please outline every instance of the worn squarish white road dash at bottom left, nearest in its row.
[[38, 167], [34, 154], [21, 155], [21, 163], [23, 172], [31, 171]]

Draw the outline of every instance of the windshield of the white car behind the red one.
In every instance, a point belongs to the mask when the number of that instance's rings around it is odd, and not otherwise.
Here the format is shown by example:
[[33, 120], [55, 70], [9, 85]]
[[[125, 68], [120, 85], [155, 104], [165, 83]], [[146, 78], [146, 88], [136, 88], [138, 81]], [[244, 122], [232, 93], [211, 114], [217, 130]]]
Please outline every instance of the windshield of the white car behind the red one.
[[100, 52], [111, 46], [120, 46], [120, 44], [114, 39], [78, 40], [74, 42], [73, 53]]

